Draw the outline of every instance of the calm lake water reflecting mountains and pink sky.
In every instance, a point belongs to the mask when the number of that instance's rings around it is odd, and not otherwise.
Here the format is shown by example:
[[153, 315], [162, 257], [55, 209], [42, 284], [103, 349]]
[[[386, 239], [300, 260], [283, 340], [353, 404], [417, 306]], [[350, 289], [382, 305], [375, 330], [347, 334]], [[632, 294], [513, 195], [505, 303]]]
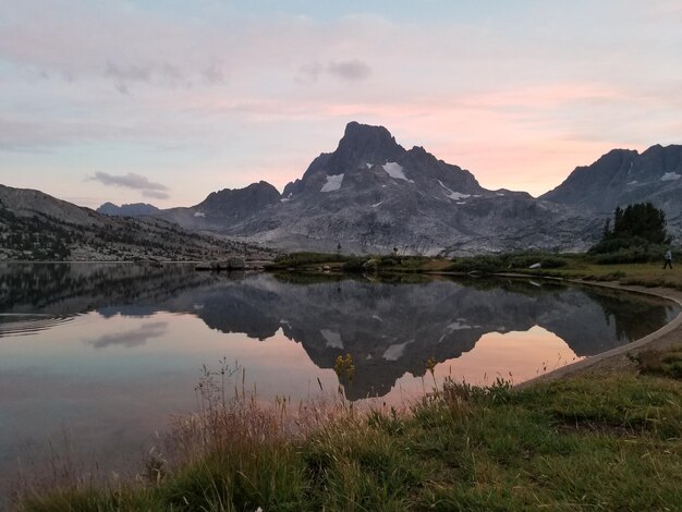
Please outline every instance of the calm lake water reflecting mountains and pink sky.
[[222, 357], [239, 361], [263, 400], [304, 400], [318, 379], [337, 389], [334, 361], [350, 353], [346, 397], [397, 403], [423, 392], [429, 357], [437, 379], [519, 382], [679, 313], [559, 283], [400, 280], [0, 265], [0, 478], [48, 440], [106, 468], [139, 461], [171, 415], [196, 409], [202, 365]]

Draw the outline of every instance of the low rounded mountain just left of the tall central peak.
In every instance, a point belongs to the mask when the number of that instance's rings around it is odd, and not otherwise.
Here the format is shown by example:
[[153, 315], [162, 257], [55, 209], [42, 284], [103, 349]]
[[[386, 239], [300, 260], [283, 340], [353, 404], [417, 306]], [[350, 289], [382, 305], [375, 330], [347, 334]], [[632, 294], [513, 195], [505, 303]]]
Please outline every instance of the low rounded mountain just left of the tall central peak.
[[188, 208], [170, 208], [157, 217], [176, 222], [195, 231], [222, 231], [259, 215], [268, 206], [280, 202], [280, 193], [265, 181], [245, 188], [223, 188], [211, 192], [206, 199]]

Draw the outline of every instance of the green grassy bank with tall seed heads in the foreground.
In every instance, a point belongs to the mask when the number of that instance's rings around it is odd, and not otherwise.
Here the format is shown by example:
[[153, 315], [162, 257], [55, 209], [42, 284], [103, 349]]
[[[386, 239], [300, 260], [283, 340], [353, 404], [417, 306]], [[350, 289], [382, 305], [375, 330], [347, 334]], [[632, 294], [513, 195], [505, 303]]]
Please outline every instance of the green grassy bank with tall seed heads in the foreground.
[[27, 495], [24, 511], [679, 510], [682, 350], [527, 389], [441, 383], [404, 411], [212, 403], [137, 481]]

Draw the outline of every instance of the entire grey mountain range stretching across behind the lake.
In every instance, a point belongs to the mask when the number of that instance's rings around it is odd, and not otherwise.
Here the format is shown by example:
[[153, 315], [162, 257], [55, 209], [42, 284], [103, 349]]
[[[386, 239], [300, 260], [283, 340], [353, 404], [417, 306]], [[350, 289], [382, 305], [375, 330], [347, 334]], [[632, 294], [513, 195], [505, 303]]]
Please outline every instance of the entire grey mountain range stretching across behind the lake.
[[[97, 254], [98, 258], [109, 253], [94, 247], [126, 240], [131, 247], [142, 247], [142, 254], [158, 242], [167, 246], [158, 253], [179, 251], [197, 257], [204, 248], [168, 243], [197, 240], [192, 239], [196, 233], [204, 237], [214, 233], [203, 241], [217, 243], [210, 245], [214, 248], [227, 236], [285, 251], [340, 246], [344, 253], [360, 254], [583, 251], [598, 239], [605, 217], [616, 206], [635, 202], [663, 208], [669, 231], [682, 235], [682, 146], [653, 146], [641, 155], [614, 149], [534, 198], [525, 192], [484, 188], [470, 171], [437, 159], [423, 147], [403, 148], [383, 126], [351, 122], [338, 147], [315, 158], [282, 194], [260, 181], [212, 192], [191, 207], [107, 203], [93, 211], [37, 191], [2, 186], [0, 227], [9, 225], [10, 231], [3, 228], [0, 236], [12, 241], [12, 257], [16, 257], [31, 251], [24, 245], [33, 244], [22, 241], [20, 231], [35, 233], [47, 258], [64, 257], [62, 232], [64, 240], [75, 236], [80, 247], [88, 247], [83, 257]], [[180, 234], [168, 236], [169, 231]], [[146, 236], [155, 243], [145, 244]], [[141, 253], [137, 248], [115, 252]]]

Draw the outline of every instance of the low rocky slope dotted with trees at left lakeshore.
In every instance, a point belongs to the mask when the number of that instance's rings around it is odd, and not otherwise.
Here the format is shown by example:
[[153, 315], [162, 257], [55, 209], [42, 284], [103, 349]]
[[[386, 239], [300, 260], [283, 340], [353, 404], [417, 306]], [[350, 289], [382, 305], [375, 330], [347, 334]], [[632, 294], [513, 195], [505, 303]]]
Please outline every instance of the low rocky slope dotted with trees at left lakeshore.
[[268, 257], [265, 249], [198, 235], [156, 218], [109, 217], [39, 191], [0, 185], [0, 259], [169, 260]]

